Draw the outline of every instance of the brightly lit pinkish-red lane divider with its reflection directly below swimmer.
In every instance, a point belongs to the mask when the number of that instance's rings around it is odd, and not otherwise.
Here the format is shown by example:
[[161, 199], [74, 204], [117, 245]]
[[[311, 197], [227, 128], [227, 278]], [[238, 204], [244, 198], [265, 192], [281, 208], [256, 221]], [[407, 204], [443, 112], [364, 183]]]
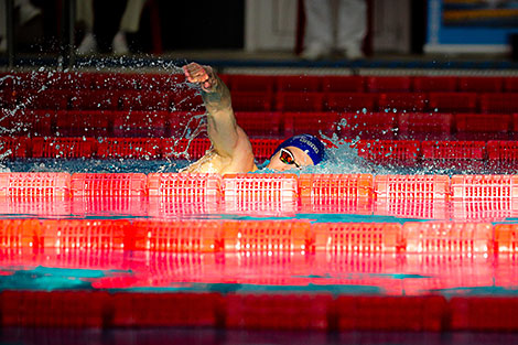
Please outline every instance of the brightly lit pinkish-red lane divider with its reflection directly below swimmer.
[[498, 222], [518, 215], [515, 175], [0, 173], [0, 214], [385, 215]]

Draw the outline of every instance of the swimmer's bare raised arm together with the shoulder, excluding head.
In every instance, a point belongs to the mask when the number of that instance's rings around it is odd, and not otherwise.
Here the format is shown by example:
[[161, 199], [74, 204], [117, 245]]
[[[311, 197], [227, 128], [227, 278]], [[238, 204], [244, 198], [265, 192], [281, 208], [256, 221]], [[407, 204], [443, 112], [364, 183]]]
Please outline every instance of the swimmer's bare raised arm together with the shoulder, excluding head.
[[202, 87], [212, 148], [181, 172], [225, 174], [256, 171], [250, 140], [236, 123], [230, 91], [225, 83], [209, 66], [191, 63], [183, 66], [183, 71], [190, 83]]

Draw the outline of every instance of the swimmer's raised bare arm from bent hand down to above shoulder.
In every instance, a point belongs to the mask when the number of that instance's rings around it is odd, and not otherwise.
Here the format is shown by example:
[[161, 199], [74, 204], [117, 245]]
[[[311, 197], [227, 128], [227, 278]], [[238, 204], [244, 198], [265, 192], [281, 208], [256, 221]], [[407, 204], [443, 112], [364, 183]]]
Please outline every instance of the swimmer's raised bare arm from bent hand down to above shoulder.
[[207, 109], [207, 132], [214, 149], [223, 157], [233, 158], [238, 141], [238, 127], [231, 107], [230, 91], [209, 66], [191, 63], [183, 66], [188, 82], [202, 86], [202, 98]]

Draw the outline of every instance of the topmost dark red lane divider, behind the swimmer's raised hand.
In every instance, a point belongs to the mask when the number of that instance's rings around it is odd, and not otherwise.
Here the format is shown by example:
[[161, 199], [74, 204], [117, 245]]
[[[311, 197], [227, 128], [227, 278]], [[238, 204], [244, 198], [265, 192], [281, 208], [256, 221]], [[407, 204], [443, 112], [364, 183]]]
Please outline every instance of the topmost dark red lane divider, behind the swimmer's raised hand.
[[[324, 93], [518, 93], [518, 77], [501, 76], [336, 76], [222, 74], [233, 91]], [[182, 74], [60, 73], [0, 74], [0, 89], [141, 89], [174, 90], [185, 83]]]

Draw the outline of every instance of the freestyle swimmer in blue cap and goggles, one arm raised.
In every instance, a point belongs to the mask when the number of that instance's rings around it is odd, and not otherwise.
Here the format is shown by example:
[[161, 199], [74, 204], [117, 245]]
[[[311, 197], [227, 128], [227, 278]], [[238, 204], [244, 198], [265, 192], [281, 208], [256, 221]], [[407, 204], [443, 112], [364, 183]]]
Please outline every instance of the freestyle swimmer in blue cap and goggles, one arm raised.
[[[230, 91], [225, 83], [209, 66], [191, 63], [183, 66], [183, 71], [190, 83], [202, 87], [212, 148], [203, 158], [181, 172], [228, 174], [257, 171], [250, 140], [236, 123]], [[287, 171], [315, 165], [324, 159], [324, 144], [316, 137], [295, 136], [283, 141], [274, 150], [265, 168]]]

